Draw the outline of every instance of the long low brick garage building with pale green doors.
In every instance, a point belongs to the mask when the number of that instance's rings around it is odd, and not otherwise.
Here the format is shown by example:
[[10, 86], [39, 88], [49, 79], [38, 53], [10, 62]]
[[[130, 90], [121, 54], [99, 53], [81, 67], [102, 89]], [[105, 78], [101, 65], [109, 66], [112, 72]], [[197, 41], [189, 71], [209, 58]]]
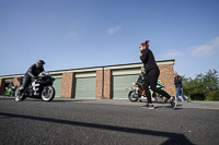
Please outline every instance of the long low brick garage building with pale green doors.
[[[175, 60], [157, 61], [157, 63], [160, 69], [159, 78], [165, 85], [164, 89], [170, 95], [175, 95], [173, 76]], [[54, 83], [56, 97], [115, 99], [127, 98], [131, 83], [137, 81], [141, 67], [142, 63], [129, 63], [49, 73], [56, 78]], [[24, 74], [0, 76], [0, 95], [3, 95], [9, 82], [13, 82], [15, 86], [20, 85], [16, 78]]]

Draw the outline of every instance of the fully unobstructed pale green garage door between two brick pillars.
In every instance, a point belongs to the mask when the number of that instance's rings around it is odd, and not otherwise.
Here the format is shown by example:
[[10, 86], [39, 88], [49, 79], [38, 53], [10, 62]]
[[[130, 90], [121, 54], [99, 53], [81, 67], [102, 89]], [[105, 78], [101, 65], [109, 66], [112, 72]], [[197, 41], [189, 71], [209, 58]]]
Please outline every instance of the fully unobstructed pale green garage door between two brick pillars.
[[95, 99], [96, 77], [76, 78], [76, 98]]

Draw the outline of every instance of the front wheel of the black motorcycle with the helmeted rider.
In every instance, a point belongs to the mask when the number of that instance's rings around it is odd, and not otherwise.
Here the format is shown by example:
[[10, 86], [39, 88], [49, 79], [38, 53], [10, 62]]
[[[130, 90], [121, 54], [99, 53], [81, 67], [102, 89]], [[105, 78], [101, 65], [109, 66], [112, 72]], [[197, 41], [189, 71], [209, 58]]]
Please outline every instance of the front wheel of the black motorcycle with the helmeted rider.
[[55, 97], [55, 88], [53, 86], [45, 86], [42, 92], [42, 99], [45, 101], [51, 101]]

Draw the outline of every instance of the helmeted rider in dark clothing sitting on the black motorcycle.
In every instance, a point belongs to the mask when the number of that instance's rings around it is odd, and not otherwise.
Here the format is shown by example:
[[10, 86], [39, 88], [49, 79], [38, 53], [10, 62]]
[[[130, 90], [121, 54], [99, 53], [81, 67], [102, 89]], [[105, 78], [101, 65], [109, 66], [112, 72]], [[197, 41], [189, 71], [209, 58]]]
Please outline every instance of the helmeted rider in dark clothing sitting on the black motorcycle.
[[26, 71], [24, 75], [22, 86], [20, 87], [21, 94], [28, 86], [28, 84], [31, 83], [31, 80], [36, 78], [38, 74], [44, 71], [44, 64], [45, 62], [43, 60], [37, 60], [35, 64], [28, 68], [28, 70]]

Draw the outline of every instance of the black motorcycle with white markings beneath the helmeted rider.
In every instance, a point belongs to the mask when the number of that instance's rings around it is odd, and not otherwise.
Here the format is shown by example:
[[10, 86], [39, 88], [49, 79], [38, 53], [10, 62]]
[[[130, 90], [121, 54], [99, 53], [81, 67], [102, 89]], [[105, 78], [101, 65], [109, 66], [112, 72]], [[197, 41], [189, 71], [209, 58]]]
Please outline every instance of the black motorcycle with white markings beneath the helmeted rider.
[[[22, 85], [23, 76], [18, 81]], [[28, 86], [21, 93], [21, 85], [15, 90], [15, 100], [24, 100], [27, 96], [42, 98], [45, 101], [51, 101], [55, 97], [55, 88], [53, 87], [55, 78], [49, 73], [43, 72], [41, 76], [32, 80]]]

